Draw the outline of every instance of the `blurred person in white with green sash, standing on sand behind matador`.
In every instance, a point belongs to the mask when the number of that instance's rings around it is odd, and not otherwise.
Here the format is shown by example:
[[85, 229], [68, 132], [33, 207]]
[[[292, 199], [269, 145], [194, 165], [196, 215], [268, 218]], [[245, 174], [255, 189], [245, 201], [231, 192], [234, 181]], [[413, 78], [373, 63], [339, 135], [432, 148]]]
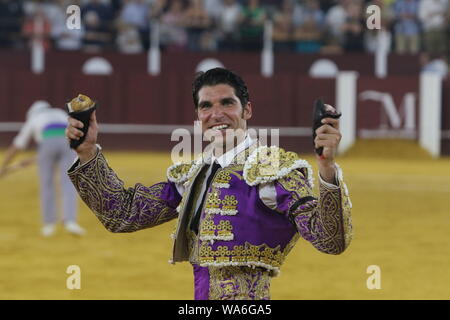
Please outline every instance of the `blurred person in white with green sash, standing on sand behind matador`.
[[[63, 203], [63, 222], [65, 229], [75, 235], [83, 235], [85, 231], [77, 224], [77, 197], [75, 189], [67, 177], [66, 171], [72, 164], [75, 153], [69, 148], [65, 138], [67, 113], [52, 108], [46, 101], [35, 101], [27, 112], [27, 119], [19, 134], [7, 149], [0, 166], [0, 177], [13, 167], [8, 166], [15, 156], [27, 148], [31, 138], [38, 145], [38, 166], [40, 182], [40, 198], [44, 237], [52, 236], [56, 231], [56, 181], [55, 169], [59, 166], [60, 186]], [[22, 161], [15, 168], [26, 166], [30, 160]]]

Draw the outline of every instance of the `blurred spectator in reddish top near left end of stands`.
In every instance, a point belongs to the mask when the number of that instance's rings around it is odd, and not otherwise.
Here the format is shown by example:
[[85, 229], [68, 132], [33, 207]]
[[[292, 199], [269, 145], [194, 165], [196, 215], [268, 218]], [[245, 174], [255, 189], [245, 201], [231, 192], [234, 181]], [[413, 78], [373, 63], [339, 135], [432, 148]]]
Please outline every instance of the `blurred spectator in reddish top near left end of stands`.
[[28, 40], [31, 47], [36, 43], [41, 43], [44, 50], [50, 49], [51, 25], [47, 19], [43, 7], [36, 5], [26, 17], [22, 26], [22, 36]]

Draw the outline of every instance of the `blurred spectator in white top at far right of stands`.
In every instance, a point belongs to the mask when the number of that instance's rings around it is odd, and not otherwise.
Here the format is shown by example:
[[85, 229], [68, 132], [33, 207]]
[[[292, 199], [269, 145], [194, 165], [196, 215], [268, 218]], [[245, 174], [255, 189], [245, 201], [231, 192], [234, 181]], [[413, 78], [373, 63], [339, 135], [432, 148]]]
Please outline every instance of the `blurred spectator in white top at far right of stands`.
[[419, 19], [423, 27], [424, 49], [431, 54], [446, 50], [445, 29], [448, 0], [421, 0]]

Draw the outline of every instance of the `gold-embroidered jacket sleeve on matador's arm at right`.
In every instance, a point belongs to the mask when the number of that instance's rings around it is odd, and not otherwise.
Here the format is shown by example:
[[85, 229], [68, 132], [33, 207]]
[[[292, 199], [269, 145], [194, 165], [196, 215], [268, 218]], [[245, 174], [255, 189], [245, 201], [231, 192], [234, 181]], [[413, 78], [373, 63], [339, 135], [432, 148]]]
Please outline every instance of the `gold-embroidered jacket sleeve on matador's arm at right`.
[[340, 254], [352, 238], [351, 202], [341, 169], [337, 167], [336, 186], [319, 179], [318, 199], [307, 175], [306, 170], [297, 169], [275, 181], [275, 209], [286, 214], [300, 235], [316, 249]]

